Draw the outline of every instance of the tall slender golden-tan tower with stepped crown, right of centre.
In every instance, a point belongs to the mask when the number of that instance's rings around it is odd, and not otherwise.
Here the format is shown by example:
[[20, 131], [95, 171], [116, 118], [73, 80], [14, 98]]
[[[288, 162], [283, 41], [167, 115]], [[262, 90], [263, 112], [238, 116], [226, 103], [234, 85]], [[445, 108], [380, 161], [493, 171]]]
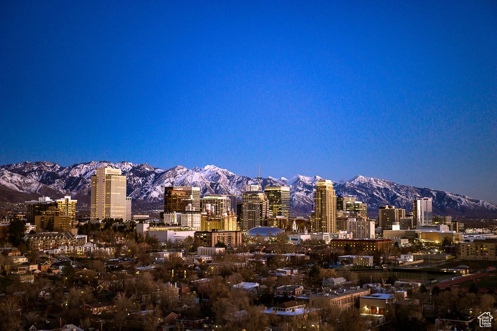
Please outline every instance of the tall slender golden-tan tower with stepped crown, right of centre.
[[313, 229], [317, 232], [335, 233], [336, 231], [336, 195], [333, 183], [328, 179], [320, 179], [314, 192]]

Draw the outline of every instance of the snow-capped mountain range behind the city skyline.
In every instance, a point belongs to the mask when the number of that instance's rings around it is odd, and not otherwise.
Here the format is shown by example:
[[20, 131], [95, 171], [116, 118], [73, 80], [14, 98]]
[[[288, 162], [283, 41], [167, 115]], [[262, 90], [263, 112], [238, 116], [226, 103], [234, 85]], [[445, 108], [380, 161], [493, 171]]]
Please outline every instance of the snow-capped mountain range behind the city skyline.
[[[51, 197], [75, 196], [88, 203], [90, 177], [95, 169], [111, 166], [122, 169], [127, 176], [127, 194], [135, 202], [158, 203], [164, 201], [166, 186], [197, 186], [205, 194], [242, 194], [244, 185], [256, 184], [256, 178], [237, 175], [215, 165], [188, 169], [177, 165], [170, 169], [148, 164], [106, 161], [79, 163], [63, 167], [53, 162], [23, 162], [0, 166], [0, 202], [23, 202], [41, 195]], [[314, 201], [314, 190], [320, 176], [295, 175], [261, 178], [262, 187], [290, 186], [290, 208], [293, 215], [308, 214]], [[353, 194], [368, 204], [368, 215], [378, 214], [378, 207], [394, 205], [413, 209], [413, 200], [421, 197], [433, 199], [433, 211], [439, 215], [491, 216], [497, 214], [497, 204], [473, 199], [464, 195], [396, 184], [389, 180], [357, 175], [343, 183], [333, 182], [336, 193]]]

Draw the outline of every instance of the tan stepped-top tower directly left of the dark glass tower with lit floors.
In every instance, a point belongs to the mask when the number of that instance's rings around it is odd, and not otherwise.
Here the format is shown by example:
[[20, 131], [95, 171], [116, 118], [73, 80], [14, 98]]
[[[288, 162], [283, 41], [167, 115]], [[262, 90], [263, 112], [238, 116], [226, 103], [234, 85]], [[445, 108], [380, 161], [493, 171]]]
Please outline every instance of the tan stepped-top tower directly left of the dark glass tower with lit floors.
[[[246, 185], [247, 186], [247, 185]], [[262, 191], [246, 191], [242, 194], [242, 229], [260, 227], [269, 216], [269, 201]]]

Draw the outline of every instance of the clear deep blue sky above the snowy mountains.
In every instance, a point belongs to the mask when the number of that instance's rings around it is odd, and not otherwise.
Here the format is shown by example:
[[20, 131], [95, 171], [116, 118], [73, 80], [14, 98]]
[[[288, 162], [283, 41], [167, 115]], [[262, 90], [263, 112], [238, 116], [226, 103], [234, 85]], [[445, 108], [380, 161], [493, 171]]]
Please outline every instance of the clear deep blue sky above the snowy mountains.
[[0, 111], [0, 164], [260, 163], [497, 202], [497, 2], [1, 1]]

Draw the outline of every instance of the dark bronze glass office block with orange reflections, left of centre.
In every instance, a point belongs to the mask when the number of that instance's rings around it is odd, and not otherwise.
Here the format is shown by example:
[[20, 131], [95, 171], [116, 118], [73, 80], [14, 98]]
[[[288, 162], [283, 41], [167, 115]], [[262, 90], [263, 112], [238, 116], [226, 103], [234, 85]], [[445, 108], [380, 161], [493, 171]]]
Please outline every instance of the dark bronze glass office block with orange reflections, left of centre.
[[184, 212], [190, 203], [193, 211], [200, 211], [200, 187], [170, 186], [164, 188], [165, 213]]

